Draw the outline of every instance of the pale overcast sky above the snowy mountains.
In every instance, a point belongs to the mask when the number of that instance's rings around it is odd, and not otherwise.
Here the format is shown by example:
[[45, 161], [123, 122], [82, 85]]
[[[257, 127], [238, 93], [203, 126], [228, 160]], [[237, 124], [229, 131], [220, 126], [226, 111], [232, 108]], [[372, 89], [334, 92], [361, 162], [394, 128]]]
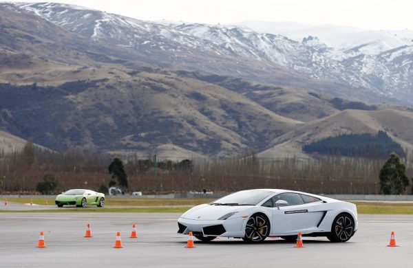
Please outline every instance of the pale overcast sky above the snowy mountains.
[[372, 30], [413, 29], [413, 1], [410, 0], [56, 0], [54, 2], [83, 5], [150, 21], [166, 19], [210, 24], [249, 20], [294, 21], [313, 25], [348, 25]]

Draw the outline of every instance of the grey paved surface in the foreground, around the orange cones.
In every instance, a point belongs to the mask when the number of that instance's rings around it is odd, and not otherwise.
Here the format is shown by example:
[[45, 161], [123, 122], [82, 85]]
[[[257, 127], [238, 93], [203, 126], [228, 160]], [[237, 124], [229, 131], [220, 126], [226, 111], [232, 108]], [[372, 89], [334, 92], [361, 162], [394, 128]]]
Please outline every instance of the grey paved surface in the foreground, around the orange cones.
[[[347, 243], [304, 238], [305, 248], [279, 238], [260, 245], [219, 238], [212, 243], [176, 234], [179, 214], [0, 213], [0, 267], [410, 267], [413, 216], [359, 216]], [[83, 238], [91, 223], [92, 238]], [[138, 238], [128, 238], [136, 223]], [[35, 246], [45, 232], [47, 248]], [[386, 247], [390, 232], [400, 247]], [[114, 249], [121, 232], [123, 249]], [[75, 266], [76, 265], [76, 266]]]

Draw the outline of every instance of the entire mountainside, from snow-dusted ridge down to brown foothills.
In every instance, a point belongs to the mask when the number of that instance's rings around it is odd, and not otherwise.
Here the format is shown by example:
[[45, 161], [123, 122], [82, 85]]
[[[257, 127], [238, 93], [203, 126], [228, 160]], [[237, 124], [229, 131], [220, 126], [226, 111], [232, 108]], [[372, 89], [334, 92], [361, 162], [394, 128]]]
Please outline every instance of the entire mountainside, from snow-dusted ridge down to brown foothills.
[[[340, 83], [347, 78], [310, 78], [295, 69], [321, 66], [326, 59], [326, 65], [312, 74], [326, 71], [328, 76], [339, 76], [355, 62], [359, 69], [353, 73], [366, 72], [363, 68], [370, 60], [369, 79], [379, 79], [374, 78], [375, 56], [354, 56], [336, 68], [337, 60], [327, 60], [329, 48], [317, 38], [302, 44], [251, 30], [159, 26], [138, 20], [131, 27], [123, 17], [98, 10], [92, 10], [96, 17], [88, 24], [78, 16], [87, 16], [89, 9], [78, 9], [71, 16], [66, 5], [20, 6], [43, 11], [38, 12], [41, 16], [28, 14], [12, 3], [0, 3], [0, 129], [23, 139], [32, 137], [53, 150], [81, 146], [126, 155], [229, 157], [255, 151], [261, 157], [308, 157], [300, 146], [310, 134], [324, 137], [379, 129], [390, 132], [403, 147], [412, 147], [405, 127], [413, 115], [395, 110], [411, 108], [379, 103], [388, 98], [373, 86], [354, 89]], [[69, 18], [77, 24], [65, 29], [44, 19], [45, 14], [51, 21]], [[104, 21], [108, 18], [114, 21]], [[100, 20], [98, 31], [96, 20]], [[131, 39], [118, 39], [116, 29], [131, 36], [140, 33], [134, 37], [138, 47], [134, 43], [125, 47]], [[268, 44], [273, 45], [260, 52], [258, 45]], [[277, 56], [265, 58], [271, 51]], [[383, 75], [393, 83], [407, 79], [408, 68], [399, 76], [392, 74], [406, 66], [409, 55], [409, 46], [380, 54]], [[295, 59], [295, 67], [288, 65]], [[386, 61], [398, 64], [390, 71]], [[364, 98], [377, 101], [365, 103]], [[397, 118], [394, 124], [392, 117]], [[368, 124], [360, 122], [363, 118]], [[397, 120], [407, 123], [398, 125]]]

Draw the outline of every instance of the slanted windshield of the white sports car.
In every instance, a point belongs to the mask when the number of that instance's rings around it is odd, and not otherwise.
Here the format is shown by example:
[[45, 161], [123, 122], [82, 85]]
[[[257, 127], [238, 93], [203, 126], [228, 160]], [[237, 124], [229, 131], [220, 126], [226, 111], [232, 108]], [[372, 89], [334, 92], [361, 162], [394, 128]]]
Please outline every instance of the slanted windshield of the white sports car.
[[257, 205], [266, 197], [269, 197], [274, 192], [266, 190], [244, 190], [234, 192], [226, 197], [217, 199], [210, 203], [211, 205]]

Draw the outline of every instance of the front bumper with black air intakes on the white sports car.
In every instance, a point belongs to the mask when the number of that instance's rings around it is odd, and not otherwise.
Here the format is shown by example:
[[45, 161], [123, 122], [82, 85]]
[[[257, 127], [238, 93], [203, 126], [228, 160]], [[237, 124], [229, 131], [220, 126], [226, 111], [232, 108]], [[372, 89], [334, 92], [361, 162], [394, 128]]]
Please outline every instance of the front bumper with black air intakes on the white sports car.
[[198, 221], [193, 219], [178, 219], [178, 233], [200, 236], [244, 237], [246, 219], [242, 217], [224, 221]]

